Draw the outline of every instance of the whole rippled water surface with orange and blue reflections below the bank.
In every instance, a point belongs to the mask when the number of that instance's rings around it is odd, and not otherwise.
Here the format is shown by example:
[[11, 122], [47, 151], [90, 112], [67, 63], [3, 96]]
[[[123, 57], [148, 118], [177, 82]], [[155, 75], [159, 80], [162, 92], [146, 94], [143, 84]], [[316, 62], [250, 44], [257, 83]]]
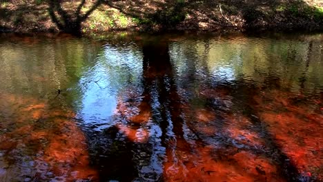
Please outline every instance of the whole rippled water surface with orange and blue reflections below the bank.
[[323, 34], [0, 37], [0, 181], [320, 181]]

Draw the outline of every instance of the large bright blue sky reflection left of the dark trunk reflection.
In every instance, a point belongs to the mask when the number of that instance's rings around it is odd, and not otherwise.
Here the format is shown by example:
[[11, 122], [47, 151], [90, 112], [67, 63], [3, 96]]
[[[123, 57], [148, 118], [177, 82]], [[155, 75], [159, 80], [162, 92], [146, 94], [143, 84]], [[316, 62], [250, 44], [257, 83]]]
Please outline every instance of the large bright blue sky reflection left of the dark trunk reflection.
[[117, 97], [121, 90], [141, 83], [141, 52], [104, 45], [95, 58], [95, 65], [88, 68], [79, 81], [84, 91], [78, 116], [86, 124], [101, 125], [104, 129], [114, 124], [110, 117], [115, 113]]

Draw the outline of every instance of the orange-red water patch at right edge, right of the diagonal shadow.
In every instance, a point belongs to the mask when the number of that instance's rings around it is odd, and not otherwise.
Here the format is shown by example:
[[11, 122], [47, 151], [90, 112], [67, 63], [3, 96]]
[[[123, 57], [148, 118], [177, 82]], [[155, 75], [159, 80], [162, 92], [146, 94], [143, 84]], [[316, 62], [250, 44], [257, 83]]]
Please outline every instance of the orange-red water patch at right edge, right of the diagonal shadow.
[[260, 106], [257, 111], [261, 119], [297, 170], [322, 179], [323, 116], [319, 114], [320, 106], [315, 101], [306, 101], [307, 104], [297, 102], [302, 99], [300, 95], [278, 90], [255, 98]]

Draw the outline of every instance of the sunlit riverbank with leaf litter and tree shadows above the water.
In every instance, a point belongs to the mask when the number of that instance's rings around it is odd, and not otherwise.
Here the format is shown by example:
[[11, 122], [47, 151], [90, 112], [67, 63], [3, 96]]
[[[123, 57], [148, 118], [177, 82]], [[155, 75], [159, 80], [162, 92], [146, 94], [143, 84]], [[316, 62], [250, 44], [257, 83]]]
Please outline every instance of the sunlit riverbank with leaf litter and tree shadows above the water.
[[155, 0], [0, 3], [1, 32], [323, 30], [318, 0]]

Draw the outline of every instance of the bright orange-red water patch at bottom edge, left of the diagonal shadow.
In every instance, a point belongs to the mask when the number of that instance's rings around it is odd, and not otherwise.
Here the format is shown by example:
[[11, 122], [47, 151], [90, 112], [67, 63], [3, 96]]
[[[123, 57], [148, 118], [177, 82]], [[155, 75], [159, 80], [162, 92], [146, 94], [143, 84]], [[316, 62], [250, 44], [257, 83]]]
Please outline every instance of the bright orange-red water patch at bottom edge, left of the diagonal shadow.
[[167, 151], [165, 181], [284, 181], [266, 157], [213, 146], [182, 147], [177, 143]]

